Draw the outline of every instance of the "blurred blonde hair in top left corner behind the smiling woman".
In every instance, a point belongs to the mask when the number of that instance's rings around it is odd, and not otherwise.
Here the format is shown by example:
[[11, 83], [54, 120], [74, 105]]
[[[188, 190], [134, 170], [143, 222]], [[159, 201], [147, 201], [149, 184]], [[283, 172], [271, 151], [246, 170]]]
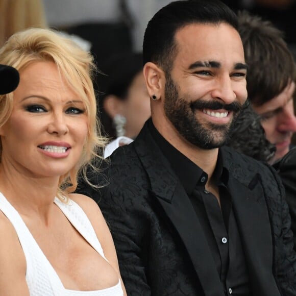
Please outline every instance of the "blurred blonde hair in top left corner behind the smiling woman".
[[0, 0], [0, 46], [14, 33], [46, 28], [42, 0]]

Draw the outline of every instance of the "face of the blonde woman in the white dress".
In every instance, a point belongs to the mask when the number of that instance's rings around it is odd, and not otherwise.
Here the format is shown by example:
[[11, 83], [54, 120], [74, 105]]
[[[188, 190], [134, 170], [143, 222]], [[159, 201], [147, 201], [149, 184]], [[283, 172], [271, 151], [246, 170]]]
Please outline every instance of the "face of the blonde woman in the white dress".
[[88, 118], [82, 99], [50, 61], [20, 71], [13, 110], [0, 128], [2, 166], [30, 177], [66, 174], [79, 161]]

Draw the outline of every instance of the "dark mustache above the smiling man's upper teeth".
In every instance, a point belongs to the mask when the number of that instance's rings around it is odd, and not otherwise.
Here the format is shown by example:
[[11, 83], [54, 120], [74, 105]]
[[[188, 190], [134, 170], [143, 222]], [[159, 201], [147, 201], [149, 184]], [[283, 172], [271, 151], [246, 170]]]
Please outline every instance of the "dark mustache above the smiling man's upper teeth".
[[219, 110], [223, 109], [226, 111], [239, 112], [242, 109], [246, 108], [250, 103], [248, 100], [244, 104], [239, 104], [237, 102], [232, 102], [231, 104], [223, 104], [218, 101], [203, 101], [196, 100], [190, 103], [191, 109], [211, 109], [211, 110]]

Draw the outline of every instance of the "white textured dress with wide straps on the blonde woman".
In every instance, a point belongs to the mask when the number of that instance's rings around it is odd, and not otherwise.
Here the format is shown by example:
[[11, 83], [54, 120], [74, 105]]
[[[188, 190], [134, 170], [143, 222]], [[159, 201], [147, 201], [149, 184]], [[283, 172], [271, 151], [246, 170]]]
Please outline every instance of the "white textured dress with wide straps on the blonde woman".
[[[69, 200], [67, 204], [58, 198], [55, 204], [61, 209], [73, 227], [103, 258], [104, 252], [94, 229], [82, 208]], [[27, 262], [26, 281], [30, 296], [122, 296], [120, 280], [110, 288], [97, 291], [68, 290], [63, 286], [58, 274], [47, 260], [19, 213], [0, 192], [0, 210], [11, 221], [22, 246]], [[106, 259], [106, 258], [105, 258]], [[106, 259], [107, 260], [107, 259]]]

